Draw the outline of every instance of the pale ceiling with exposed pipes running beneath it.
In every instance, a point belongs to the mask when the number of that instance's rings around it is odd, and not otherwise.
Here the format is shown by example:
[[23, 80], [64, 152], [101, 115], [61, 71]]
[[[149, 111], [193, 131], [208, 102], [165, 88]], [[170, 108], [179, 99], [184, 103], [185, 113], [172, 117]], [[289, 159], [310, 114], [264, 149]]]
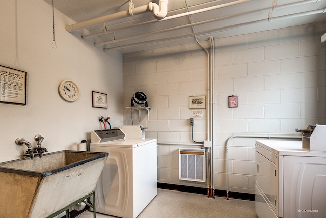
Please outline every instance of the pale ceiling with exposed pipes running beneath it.
[[[52, 0], [44, 1], [52, 6]], [[130, 2], [137, 8], [148, 5], [150, 1], [54, 0], [54, 2], [57, 10], [79, 23], [128, 11]], [[158, 4], [158, 0], [152, 2]], [[211, 7], [215, 9], [207, 10]], [[198, 41], [207, 41], [210, 36], [217, 39], [326, 21], [324, 8], [326, 0], [170, 0], [167, 16], [163, 20], [156, 20], [152, 12], [148, 11], [69, 32], [78, 36], [82, 34], [84, 40], [95, 43], [94, 46], [100, 49], [115, 49], [129, 53], [193, 43], [196, 41], [195, 36]], [[184, 14], [197, 12], [199, 9], [207, 11], [192, 15]], [[170, 16], [178, 14], [186, 16], [179, 15], [178, 18], [170, 19]], [[100, 33], [101, 35], [98, 35]]]

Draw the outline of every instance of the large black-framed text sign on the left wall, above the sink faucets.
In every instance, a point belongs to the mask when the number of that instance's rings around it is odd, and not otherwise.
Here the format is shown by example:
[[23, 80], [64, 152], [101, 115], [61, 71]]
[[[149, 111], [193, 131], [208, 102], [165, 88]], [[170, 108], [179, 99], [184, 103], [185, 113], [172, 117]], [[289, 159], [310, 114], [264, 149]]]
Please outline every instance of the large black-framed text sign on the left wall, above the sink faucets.
[[0, 103], [26, 105], [26, 79], [26, 72], [0, 65]]

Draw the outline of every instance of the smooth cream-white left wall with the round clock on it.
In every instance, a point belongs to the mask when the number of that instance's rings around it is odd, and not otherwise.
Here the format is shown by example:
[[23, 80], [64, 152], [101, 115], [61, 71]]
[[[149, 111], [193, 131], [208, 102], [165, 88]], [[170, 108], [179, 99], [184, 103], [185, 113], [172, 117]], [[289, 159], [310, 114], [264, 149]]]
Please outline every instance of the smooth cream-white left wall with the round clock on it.
[[[20, 158], [26, 150], [15, 140], [36, 145], [44, 137], [49, 152], [77, 149], [90, 132], [101, 129], [98, 118], [110, 116], [112, 126], [123, 123], [122, 55], [103, 52], [78, 34], [65, 30], [72, 20], [55, 11], [57, 49], [53, 40], [52, 6], [40, 0], [0, 0], [0, 65], [27, 72], [27, 104], [0, 103], [0, 161]], [[79, 98], [61, 99], [62, 80], [74, 80]], [[92, 91], [108, 95], [108, 108], [92, 107]]]

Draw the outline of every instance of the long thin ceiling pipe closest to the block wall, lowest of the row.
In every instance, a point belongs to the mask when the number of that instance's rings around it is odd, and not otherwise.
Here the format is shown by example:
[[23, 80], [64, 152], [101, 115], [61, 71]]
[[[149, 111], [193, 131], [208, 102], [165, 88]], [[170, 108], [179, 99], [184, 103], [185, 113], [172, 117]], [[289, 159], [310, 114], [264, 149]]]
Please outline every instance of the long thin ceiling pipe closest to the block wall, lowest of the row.
[[214, 28], [214, 29], [205, 30], [205, 31], [198, 31], [195, 33], [187, 33], [187, 34], [181, 34], [181, 35], [171, 36], [171, 37], [166, 37], [166, 38], [161, 38], [161, 39], [154, 39], [154, 40], [149, 40], [149, 41], [144, 41], [144, 42], [132, 43], [132, 44], [128, 44], [128, 45], [104, 48], [104, 51], [108, 51], [108, 50], [112, 50], [112, 49], [133, 47], [133, 46], [138, 46], [138, 45], [145, 45], [145, 44], [150, 44], [150, 43], [157, 43], [157, 42], [162, 42], [162, 41], [170, 41], [170, 40], [174, 40], [174, 39], [188, 38], [188, 37], [193, 37], [193, 36], [204, 36], [204, 35], [212, 34], [212, 33], [216, 33], [216, 32], [222, 32], [222, 31], [233, 30], [233, 29], [237, 29], [237, 28], [243, 28], [244, 26], [252, 25], [252, 24], [266, 23], [269, 21], [282, 20], [282, 19], [288, 19], [288, 18], [296, 18], [296, 17], [320, 14], [320, 13], [325, 13], [325, 12], [326, 12], [326, 8], [323, 8], [323, 9], [317, 9], [317, 10], [308, 11], [308, 12], [295, 13], [295, 14], [289, 14], [289, 15], [272, 17], [272, 18], [270, 17], [270, 18], [261, 19], [261, 20], [255, 20], [255, 21], [250, 21], [250, 22], [245, 22], [245, 23], [238, 23], [238, 24], [234, 24], [234, 25], [224, 26], [221, 28]]

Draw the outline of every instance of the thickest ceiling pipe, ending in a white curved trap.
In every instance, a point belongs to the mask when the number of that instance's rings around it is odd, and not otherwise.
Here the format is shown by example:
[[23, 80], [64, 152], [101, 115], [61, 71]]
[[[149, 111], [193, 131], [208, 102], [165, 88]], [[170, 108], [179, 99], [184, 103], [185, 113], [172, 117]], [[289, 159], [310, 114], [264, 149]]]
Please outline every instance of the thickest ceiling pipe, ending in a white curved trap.
[[132, 1], [130, 3], [131, 4], [129, 4], [129, 10], [120, 11], [120, 12], [117, 12], [114, 14], [105, 15], [105, 16], [94, 18], [91, 20], [86, 20], [84, 22], [66, 25], [66, 30], [68, 32], [72, 32], [72, 31], [76, 31], [76, 30], [79, 30], [82, 28], [87, 28], [92, 25], [97, 25], [97, 24], [105, 23], [105, 22], [111, 21], [111, 20], [117, 20], [120, 18], [128, 17], [128, 16], [142, 14], [142, 13], [145, 13], [148, 11], [153, 11], [153, 16], [157, 19], [163, 19], [168, 13], [168, 3], [169, 3], [168, 0], [159, 0], [159, 3], [158, 3], [159, 5], [157, 5], [156, 3], [150, 2], [147, 5], [139, 6], [137, 8], [133, 7]]

